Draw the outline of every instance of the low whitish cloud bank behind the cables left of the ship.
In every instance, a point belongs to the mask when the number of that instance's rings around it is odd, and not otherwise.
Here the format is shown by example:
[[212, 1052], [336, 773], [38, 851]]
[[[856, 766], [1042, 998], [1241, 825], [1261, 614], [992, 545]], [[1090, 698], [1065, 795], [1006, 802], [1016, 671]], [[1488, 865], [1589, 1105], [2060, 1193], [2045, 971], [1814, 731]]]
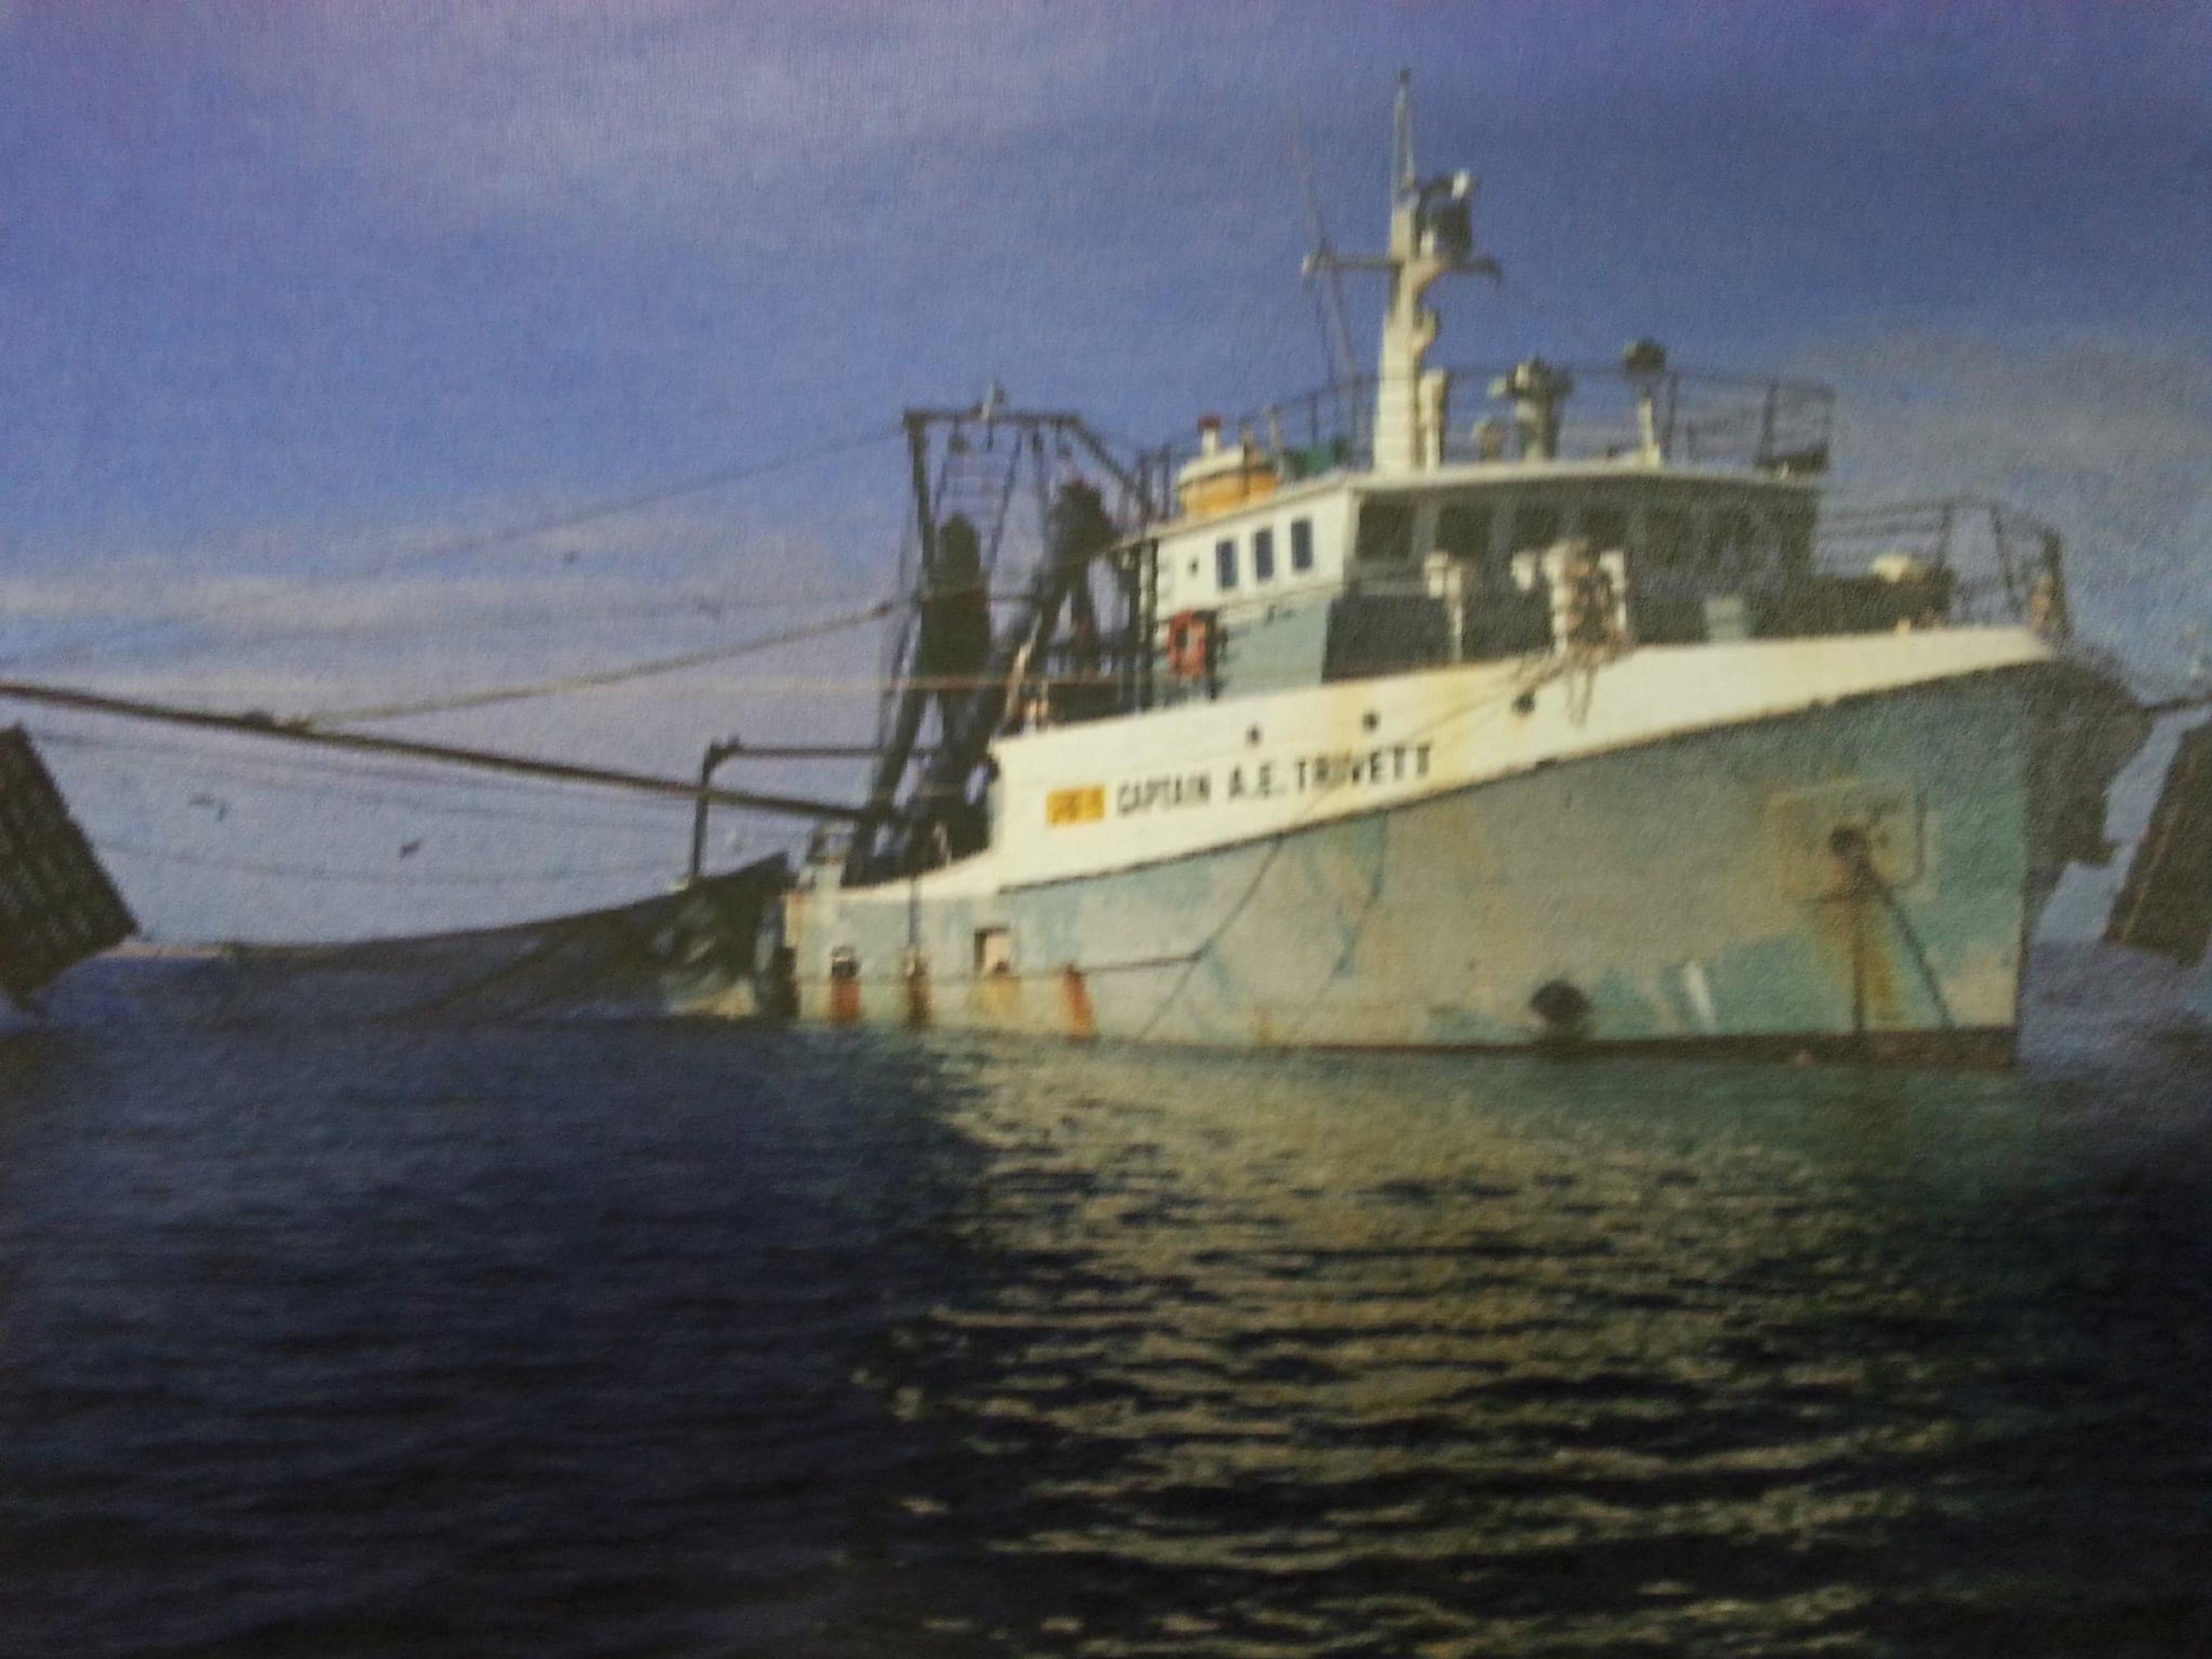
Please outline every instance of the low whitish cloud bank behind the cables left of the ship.
[[[686, 502], [593, 526], [573, 564], [571, 538], [425, 557], [451, 529], [265, 524], [95, 568], [18, 571], [0, 577], [0, 672], [281, 714], [542, 684], [860, 613], [889, 591], [896, 544], [889, 524], [830, 542], [836, 518], [737, 524]], [[880, 624], [867, 624], [436, 728], [681, 772], [732, 717], [757, 739], [865, 737], [872, 697], [852, 688], [872, 684], [878, 650]]]

